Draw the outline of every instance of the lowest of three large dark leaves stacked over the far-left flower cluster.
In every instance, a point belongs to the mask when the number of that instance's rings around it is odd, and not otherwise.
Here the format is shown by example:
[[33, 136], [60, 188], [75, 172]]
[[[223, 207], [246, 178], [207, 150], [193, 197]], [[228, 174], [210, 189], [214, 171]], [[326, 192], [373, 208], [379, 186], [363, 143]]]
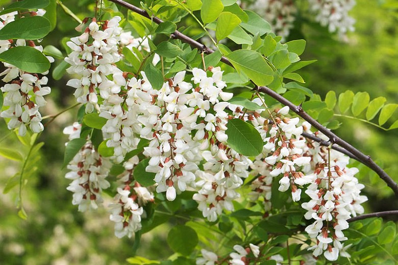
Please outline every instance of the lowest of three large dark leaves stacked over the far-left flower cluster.
[[18, 46], [3, 51], [0, 54], [0, 61], [30, 73], [43, 73], [50, 67], [48, 59], [39, 50], [30, 46]]

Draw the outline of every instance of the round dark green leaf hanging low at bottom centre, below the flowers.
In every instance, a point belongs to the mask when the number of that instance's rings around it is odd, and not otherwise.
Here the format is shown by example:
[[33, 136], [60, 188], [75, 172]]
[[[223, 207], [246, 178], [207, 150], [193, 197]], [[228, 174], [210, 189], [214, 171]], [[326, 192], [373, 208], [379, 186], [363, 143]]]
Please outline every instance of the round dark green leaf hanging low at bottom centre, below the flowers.
[[195, 230], [185, 225], [176, 225], [167, 235], [167, 244], [170, 248], [185, 256], [191, 254], [198, 241]]

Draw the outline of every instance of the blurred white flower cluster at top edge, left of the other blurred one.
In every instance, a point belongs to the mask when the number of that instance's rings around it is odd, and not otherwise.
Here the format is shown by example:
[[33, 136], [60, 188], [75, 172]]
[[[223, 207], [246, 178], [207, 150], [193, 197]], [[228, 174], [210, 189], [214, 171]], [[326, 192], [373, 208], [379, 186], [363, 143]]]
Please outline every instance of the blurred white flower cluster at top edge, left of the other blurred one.
[[282, 36], [283, 39], [289, 36], [297, 13], [292, 0], [254, 1], [248, 8], [255, 10], [264, 17], [271, 24], [272, 31], [275, 34]]

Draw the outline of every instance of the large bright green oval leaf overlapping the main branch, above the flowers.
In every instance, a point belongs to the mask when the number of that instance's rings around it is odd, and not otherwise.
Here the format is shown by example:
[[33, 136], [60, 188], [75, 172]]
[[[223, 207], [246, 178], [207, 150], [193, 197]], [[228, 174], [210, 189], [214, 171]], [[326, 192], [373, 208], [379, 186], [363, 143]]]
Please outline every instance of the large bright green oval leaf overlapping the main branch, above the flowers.
[[257, 51], [235, 50], [227, 57], [236, 70], [243, 71], [257, 86], [266, 86], [272, 82], [273, 71]]

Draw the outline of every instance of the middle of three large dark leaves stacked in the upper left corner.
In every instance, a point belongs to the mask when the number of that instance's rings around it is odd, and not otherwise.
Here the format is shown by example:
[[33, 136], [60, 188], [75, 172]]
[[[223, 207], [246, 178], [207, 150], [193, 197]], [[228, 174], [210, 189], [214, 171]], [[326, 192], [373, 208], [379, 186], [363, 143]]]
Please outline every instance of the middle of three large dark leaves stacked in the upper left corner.
[[0, 30], [0, 40], [44, 38], [51, 29], [51, 23], [42, 16], [22, 17], [12, 21]]

